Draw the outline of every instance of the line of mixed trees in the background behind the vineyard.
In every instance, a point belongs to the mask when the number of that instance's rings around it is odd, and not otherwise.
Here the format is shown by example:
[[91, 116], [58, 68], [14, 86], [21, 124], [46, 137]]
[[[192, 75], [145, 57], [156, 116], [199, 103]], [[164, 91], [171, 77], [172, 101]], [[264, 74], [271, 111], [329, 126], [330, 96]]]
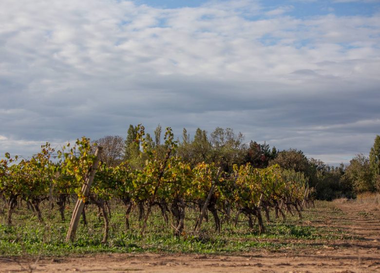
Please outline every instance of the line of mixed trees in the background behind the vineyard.
[[[137, 127], [129, 126], [125, 138], [106, 136], [95, 140], [104, 147], [102, 160], [108, 165], [116, 166], [128, 160], [134, 168], [142, 168], [146, 158], [140, 155], [140, 149], [134, 145]], [[162, 126], [146, 134], [149, 149], [165, 154], [162, 143]], [[380, 136], [377, 135], [369, 156], [358, 154], [349, 164], [330, 166], [320, 159], [307, 158], [301, 150], [290, 148], [278, 151], [266, 142], [245, 142], [242, 133], [231, 128], [217, 127], [208, 134], [205, 130], [196, 129], [193, 137], [184, 128], [182, 136], [177, 139], [176, 156], [195, 166], [198, 163], [218, 164], [225, 172], [231, 172], [233, 165], [250, 163], [252, 167], [263, 169], [278, 164], [281, 168], [301, 172], [309, 180], [310, 187], [316, 190], [316, 198], [332, 200], [339, 197], [355, 198], [363, 192], [380, 190]]]

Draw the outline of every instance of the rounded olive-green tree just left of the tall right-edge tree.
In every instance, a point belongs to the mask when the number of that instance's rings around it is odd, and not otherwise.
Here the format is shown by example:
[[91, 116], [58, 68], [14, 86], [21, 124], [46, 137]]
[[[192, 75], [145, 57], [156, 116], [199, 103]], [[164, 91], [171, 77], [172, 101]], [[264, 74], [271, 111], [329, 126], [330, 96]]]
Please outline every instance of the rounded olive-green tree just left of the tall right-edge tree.
[[375, 190], [369, 159], [363, 154], [358, 154], [351, 159], [344, 176], [345, 179], [351, 181], [356, 193], [373, 192]]

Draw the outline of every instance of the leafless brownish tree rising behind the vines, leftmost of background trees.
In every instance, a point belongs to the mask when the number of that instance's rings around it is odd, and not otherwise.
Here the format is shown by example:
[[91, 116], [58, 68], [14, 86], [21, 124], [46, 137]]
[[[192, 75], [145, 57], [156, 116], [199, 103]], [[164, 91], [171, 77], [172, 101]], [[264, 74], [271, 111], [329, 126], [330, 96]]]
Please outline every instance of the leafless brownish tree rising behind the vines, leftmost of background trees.
[[103, 147], [100, 160], [108, 166], [115, 167], [123, 159], [124, 139], [120, 136], [106, 136], [94, 141]]

